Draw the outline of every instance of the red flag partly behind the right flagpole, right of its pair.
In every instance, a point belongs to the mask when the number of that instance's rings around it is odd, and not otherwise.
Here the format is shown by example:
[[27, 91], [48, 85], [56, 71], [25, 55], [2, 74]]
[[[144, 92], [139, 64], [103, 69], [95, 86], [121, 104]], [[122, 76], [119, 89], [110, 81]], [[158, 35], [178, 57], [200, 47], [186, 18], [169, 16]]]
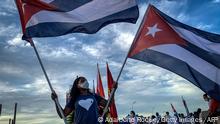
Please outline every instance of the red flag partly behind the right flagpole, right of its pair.
[[[108, 96], [110, 97], [111, 94], [111, 90], [113, 88], [113, 84], [115, 83], [112, 77], [112, 73], [108, 67], [108, 63], [107, 65], [107, 81], [108, 81]], [[116, 109], [116, 105], [115, 105], [115, 100], [113, 99], [110, 107], [110, 115], [113, 119], [118, 119], [118, 113], [117, 113], [117, 109]], [[114, 122], [114, 124], [118, 124], [118, 122]]]

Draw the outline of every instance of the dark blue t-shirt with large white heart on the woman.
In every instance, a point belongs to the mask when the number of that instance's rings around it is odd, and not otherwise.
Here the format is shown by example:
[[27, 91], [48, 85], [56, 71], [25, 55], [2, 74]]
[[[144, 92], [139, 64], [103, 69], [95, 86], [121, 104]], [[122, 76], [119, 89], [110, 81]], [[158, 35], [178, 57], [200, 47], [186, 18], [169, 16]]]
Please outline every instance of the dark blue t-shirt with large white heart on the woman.
[[101, 97], [96, 94], [80, 95], [75, 104], [71, 100], [66, 107], [74, 108], [74, 124], [98, 124], [98, 103]]

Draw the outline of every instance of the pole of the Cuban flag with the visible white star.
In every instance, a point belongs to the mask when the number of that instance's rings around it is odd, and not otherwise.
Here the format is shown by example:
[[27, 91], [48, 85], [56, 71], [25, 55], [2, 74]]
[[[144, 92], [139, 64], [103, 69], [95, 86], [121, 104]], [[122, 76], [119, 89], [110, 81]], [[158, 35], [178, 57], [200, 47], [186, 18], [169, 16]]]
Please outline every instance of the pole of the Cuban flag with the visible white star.
[[[149, 6], [150, 6], [150, 5], [149, 5]], [[135, 44], [135, 41], [136, 41], [136, 39], [138, 38], [138, 35], [137, 35], [137, 34], [140, 33], [140, 30], [141, 30], [141, 28], [143, 27], [143, 23], [144, 23], [145, 20], [146, 20], [146, 17], [147, 17], [146, 14], [148, 13], [149, 6], [148, 6], [148, 8], [147, 8], [146, 11], [145, 11], [145, 15], [144, 15], [144, 17], [143, 17], [143, 19], [142, 19], [142, 21], [141, 21], [141, 24], [140, 24], [140, 26], [139, 26], [139, 28], [138, 28], [138, 31], [137, 31], [137, 33], [136, 33], [136, 35], [135, 35], [135, 38], [134, 38], [134, 40], [133, 40], [133, 42], [132, 42], [132, 44], [131, 44], [131, 46], [130, 46], [130, 48], [129, 48], [129, 50], [128, 50], [127, 56], [125, 57], [125, 60], [124, 60], [124, 62], [123, 62], [123, 64], [122, 64], [122, 67], [121, 67], [121, 69], [120, 69], [120, 71], [119, 71], [118, 77], [117, 77], [117, 79], [116, 79], [116, 81], [115, 81], [115, 85], [116, 85], [116, 86], [118, 85], [118, 80], [119, 80], [119, 78], [120, 78], [120, 76], [121, 76], [121, 73], [122, 73], [122, 71], [123, 71], [123, 69], [124, 69], [124, 66], [125, 66], [125, 64], [126, 64], [126, 62], [127, 62], [129, 52], [130, 52], [131, 49], [133, 48], [133, 45]], [[111, 94], [110, 94], [110, 97], [109, 97], [109, 99], [108, 99], [108, 102], [107, 102], [107, 104], [106, 104], [106, 106], [105, 106], [105, 108], [104, 108], [104, 111], [103, 111], [103, 114], [102, 114], [102, 118], [105, 116], [105, 114], [106, 114], [107, 111], [108, 111], [108, 107], [109, 107], [109, 105], [110, 105], [110, 102], [111, 102], [112, 99], [113, 99], [113, 96], [114, 96], [114, 94], [115, 94], [116, 89], [117, 89], [117, 88], [113, 87], [113, 89], [112, 89], [112, 91], [111, 91]]]

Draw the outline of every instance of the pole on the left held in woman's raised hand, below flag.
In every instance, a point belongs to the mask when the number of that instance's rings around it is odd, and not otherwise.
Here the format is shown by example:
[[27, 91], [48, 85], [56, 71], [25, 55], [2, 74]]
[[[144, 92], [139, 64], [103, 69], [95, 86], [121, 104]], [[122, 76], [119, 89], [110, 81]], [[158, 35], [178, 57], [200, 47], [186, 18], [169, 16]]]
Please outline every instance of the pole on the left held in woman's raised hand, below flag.
[[[34, 51], [35, 51], [36, 56], [37, 56], [37, 59], [38, 59], [38, 61], [39, 61], [39, 63], [40, 63], [41, 69], [42, 69], [42, 71], [43, 71], [43, 73], [44, 73], [44, 76], [45, 76], [45, 78], [46, 78], [46, 80], [47, 80], [47, 83], [48, 83], [48, 85], [49, 85], [49, 87], [50, 87], [51, 92], [52, 92], [52, 93], [55, 93], [55, 90], [53, 89], [52, 84], [51, 84], [51, 82], [50, 82], [50, 80], [49, 80], [49, 78], [48, 78], [47, 72], [46, 72], [46, 70], [45, 70], [45, 68], [44, 68], [44, 65], [43, 65], [42, 61], [41, 61], [40, 55], [39, 55], [39, 53], [38, 53], [38, 51], [37, 51], [37, 48], [36, 48], [36, 46], [35, 46], [35, 44], [34, 44], [34, 41], [33, 41], [32, 39], [28, 39], [28, 41], [30, 42], [31, 46], [34, 48]], [[54, 101], [55, 101], [55, 103], [56, 103], [56, 105], [57, 105], [57, 107], [58, 107], [58, 110], [59, 110], [59, 112], [60, 112], [60, 114], [61, 114], [61, 117], [62, 117], [62, 119], [63, 119], [63, 121], [64, 121], [64, 124], [67, 124], [66, 118], [65, 118], [65, 116], [64, 116], [63, 110], [62, 110], [62, 108], [61, 108], [61, 105], [59, 104], [58, 99], [56, 98]]]

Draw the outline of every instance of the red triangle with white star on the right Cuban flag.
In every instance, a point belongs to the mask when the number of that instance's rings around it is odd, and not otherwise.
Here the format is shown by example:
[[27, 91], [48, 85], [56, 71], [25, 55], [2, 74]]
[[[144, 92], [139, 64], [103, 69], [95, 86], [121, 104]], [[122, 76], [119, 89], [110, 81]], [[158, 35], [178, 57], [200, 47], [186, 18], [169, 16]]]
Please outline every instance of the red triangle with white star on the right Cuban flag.
[[144, 49], [162, 44], [186, 45], [186, 42], [154, 10], [154, 7], [149, 5], [128, 57], [132, 57]]

